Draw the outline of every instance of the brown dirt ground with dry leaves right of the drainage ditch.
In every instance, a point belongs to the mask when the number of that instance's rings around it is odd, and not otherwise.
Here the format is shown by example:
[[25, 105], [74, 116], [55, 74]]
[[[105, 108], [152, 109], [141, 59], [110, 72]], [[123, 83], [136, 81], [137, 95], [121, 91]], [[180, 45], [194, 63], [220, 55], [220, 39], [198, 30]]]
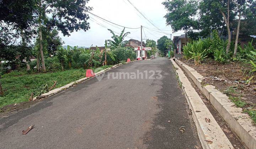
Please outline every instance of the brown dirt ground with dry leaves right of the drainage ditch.
[[201, 65], [194, 65], [193, 60], [181, 61], [205, 77], [202, 84], [214, 85], [229, 97], [239, 98], [246, 103], [241, 106], [243, 108], [256, 107], [256, 77], [246, 82], [252, 77], [248, 75], [250, 64], [230, 62], [219, 65], [214, 60], [206, 60]]

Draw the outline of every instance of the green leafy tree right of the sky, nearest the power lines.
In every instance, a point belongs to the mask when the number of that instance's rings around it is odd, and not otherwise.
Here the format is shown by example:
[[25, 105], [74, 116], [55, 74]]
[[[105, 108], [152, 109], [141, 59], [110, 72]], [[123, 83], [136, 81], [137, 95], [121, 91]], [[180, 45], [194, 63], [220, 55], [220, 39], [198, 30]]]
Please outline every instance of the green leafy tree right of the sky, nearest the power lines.
[[194, 18], [197, 13], [196, 0], [167, 0], [162, 2], [167, 9], [166, 24], [170, 25], [174, 32], [184, 30], [186, 41], [187, 33], [198, 28], [198, 22]]

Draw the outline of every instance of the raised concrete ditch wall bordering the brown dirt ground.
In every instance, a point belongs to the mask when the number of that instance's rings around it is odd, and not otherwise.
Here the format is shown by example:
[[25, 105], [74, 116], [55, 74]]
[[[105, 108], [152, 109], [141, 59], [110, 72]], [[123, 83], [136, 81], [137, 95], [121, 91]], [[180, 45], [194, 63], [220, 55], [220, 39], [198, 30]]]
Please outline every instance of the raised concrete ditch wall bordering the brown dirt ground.
[[235, 104], [230, 101], [228, 96], [215, 89], [215, 86], [203, 86], [201, 84], [203, 76], [196, 70], [179, 60], [175, 59], [175, 62], [188, 74], [188, 76], [190, 76], [204, 96], [206, 96], [220, 116], [226, 121], [231, 131], [241, 139], [247, 148], [255, 149], [256, 127], [253, 125], [250, 116], [242, 113], [242, 108], [236, 107]]

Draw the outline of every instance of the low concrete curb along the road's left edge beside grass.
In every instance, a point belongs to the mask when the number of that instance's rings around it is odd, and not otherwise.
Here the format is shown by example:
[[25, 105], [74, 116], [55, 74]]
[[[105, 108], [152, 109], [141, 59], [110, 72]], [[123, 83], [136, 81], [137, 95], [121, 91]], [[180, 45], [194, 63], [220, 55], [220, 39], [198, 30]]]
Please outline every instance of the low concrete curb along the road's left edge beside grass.
[[[131, 62], [134, 62], [134, 61], [131, 61]], [[119, 66], [122, 66], [122, 65], [123, 65], [122, 63], [119, 63], [119, 64], [117, 64], [117, 65], [114, 65], [114, 66], [110, 67], [110, 68], [106, 68], [106, 69], [104, 69], [104, 70], [102, 70], [102, 71], [96, 72], [96, 73], [95, 73], [95, 76], [98, 76], [98, 75], [100, 75], [100, 74], [103, 73], [103, 72], [106, 72], [106, 71], [108, 71], [108, 70], [111, 70], [111, 69], [113, 69], [113, 68], [116, 68], [116, 67], [119, 67]], [[53, 90], [50, 90], [49, 92], [44, 93], [44, 94], [42, 94], [42, 95], [40, 95], [40, 96], [36, 96], [36, 97], [33, 98], [33, 100], [37, 100], [37, 99], [41, 99], [41, 98], [47, 98], [47, 97], [49, 97], [49, 96], [52, 96], [52, 95], [54, 95], [54, 94], [56, 94], [56, 93], [58, 93], [58, 92], [60, 92], [60, 91], [62, 91], [62, 90], [65, 90], [65, 89], [67, 89], [67, 88], [73, 86], [74, 84], [77, 84], [77, 83], [86, 81], [86, 80], [89, 79], [89, 78], [93, 78], [93, 77], [84, 77], [84, 78], [81, 78], [81, 79], [79, 79], [79, 80], [77, 80], [77, 81], [71, 82], [71, 83], [66, 84], [66, 85], [64, 85], [64, 86], [62, 86], [62, 87], [59, 87], [59, 88], [55, 88], [55, 89], [53, 89]]]

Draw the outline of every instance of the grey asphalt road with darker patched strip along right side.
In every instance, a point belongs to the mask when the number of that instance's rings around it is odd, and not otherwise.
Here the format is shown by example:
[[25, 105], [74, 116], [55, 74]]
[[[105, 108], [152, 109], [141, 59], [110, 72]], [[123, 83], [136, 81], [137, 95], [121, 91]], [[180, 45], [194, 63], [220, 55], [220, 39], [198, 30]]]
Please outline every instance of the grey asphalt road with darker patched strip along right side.
[[[148, 76], [144, 72], [143, 79], [142, 75], [136, 78], [137, 70], [147, 71]], [[122, 73], [117, 77], [119, 72], [128, 72], [126, 79]], [[21, 131], [30, 125], [34, 128], [23, 135]], [[184, 133], [181, 126], [185, 126]], [[101, 81], [91, 78], [0, 119], [0, 148], [194, 145], [200, 147], [197, 131], [171, 62], [165, 57], [114, 68]]]

